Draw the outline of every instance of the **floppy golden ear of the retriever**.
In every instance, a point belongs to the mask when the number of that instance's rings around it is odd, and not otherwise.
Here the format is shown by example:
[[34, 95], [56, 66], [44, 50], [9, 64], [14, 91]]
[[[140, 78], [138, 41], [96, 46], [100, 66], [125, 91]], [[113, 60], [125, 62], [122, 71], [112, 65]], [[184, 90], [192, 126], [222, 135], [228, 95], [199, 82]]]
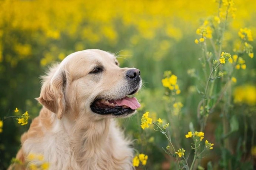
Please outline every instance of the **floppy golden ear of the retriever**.
[[44, 76], [40, 97], [36, 98], [47, 109], [57, 114], [61, 119], [66, 110], [64, 89], [67, 78], [64, 70], [56, 70], [53, 76]]

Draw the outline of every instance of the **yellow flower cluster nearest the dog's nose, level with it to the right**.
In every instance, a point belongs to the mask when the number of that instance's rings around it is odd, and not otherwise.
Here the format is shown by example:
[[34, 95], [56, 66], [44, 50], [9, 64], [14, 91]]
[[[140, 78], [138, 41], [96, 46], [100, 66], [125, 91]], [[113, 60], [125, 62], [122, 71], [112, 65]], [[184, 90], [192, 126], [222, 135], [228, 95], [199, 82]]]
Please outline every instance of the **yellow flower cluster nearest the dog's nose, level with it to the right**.
[[180, 94], [179, 85], [177, 85], [177, 76], [172, 74], [171, 71], [164, 72], [164, 79], [162, 84], [164, 87], [169, 88], [171, 91], [175, 91], [176, 94]]

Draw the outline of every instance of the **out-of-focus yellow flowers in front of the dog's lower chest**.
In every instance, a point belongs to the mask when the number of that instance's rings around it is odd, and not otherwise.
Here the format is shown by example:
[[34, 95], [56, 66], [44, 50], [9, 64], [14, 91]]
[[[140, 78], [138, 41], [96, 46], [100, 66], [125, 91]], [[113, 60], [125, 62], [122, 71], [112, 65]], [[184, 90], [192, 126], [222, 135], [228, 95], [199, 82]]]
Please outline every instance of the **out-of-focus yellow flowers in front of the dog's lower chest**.
[[44, 161], [44, 156], [42, 154], [30, 153], [26, 160], [28, 162], [29, 170], [48, 170], [50, 164]]

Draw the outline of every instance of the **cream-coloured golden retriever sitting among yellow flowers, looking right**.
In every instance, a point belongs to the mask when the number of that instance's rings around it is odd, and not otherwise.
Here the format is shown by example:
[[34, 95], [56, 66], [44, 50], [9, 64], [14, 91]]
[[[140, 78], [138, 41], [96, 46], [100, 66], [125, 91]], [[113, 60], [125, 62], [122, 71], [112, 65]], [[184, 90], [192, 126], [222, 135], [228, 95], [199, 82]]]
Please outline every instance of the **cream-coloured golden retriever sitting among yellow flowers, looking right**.
[[136, 113], [142, 86], [140, 71], [120, 68], [116, 57], [102, 50], [74, 52], [42, 76], [43, 108], [21, 136], [21, 149], [9, 169], [30, 169], [42, 155], [50, 170], [130, 170], [130, 140], [112, 118]]

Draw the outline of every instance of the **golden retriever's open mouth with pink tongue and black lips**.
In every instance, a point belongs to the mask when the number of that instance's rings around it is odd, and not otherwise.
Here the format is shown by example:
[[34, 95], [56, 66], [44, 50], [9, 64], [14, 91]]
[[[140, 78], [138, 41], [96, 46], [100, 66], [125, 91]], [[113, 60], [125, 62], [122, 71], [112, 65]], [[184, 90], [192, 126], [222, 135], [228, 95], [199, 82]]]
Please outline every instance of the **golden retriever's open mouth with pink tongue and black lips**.
[[96, 99], [91, 105], [94, 113], [100, 115], [128, 115], [140, 107], [140, 103], [135, 97], [125, 97], [118, 100]]

